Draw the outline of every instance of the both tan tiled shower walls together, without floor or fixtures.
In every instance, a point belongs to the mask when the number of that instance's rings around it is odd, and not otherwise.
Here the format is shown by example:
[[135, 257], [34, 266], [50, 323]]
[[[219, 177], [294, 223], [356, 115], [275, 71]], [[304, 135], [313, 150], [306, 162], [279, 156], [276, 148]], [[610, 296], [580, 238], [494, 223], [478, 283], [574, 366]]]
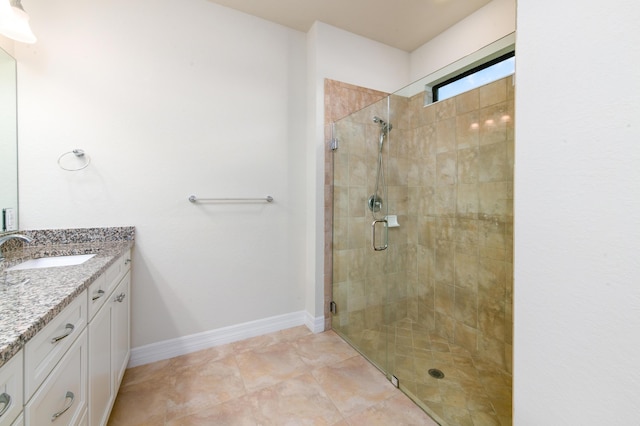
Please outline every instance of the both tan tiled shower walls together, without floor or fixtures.
[[[337, 124], [343, 143], [327, 154], [335, 176], [325, 182], [325, 213], [335, 221], [335, 235], [326, 224], [325, 276], [333, 275], [333, 298], [342, 304], [335, 328], [361, 340], [408, 317], [511, 371], [513, 99], [509, 77], [427, 107], [421, 94], [391, 96], [390, 117], [385, 98]], [[366, 208], [375, 115], [393, 124], [385, 177], [389, 214], [400, 227], [389, 229], [385, 252], [370, 248]]]

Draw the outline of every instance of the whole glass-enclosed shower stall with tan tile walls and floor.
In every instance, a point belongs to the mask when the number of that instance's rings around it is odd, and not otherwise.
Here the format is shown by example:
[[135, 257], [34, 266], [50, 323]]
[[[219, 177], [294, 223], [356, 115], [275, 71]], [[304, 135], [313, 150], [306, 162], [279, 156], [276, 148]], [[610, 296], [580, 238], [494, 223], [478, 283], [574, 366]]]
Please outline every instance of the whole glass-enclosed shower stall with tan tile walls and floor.
[[331, 327], [443, 425], [511, 424], [513, 121], [507, 77], [333, 123]]

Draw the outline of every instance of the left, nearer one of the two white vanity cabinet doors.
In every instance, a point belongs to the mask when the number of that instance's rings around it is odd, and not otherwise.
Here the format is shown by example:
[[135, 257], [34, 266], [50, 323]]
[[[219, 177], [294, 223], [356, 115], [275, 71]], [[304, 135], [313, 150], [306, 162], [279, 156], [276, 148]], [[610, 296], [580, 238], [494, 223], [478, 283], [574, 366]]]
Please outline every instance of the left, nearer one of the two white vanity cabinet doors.
[[89, 424], [94, 426], [106, 424], [115, 397], [111, 379], [111, 312], [111, 304], [107, 303], [89, 323]]

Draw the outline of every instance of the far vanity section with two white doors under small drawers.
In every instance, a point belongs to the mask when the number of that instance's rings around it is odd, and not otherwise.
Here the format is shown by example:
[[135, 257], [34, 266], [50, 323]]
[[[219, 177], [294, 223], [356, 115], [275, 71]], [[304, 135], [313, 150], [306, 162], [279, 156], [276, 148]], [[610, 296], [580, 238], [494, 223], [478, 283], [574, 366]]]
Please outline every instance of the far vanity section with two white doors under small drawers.
[[89, 287], [89, 424], [105, 425], [129, 362], [130, 253]]

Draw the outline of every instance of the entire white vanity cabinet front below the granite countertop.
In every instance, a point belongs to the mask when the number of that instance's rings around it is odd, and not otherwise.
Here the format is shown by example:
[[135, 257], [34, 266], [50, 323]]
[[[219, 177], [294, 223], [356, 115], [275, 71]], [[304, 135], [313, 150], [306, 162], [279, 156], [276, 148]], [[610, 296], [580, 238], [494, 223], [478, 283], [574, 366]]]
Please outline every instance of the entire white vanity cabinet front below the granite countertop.
[[106, 425], [130, 356], [126, 250], [0, 367], [0, 426]]

